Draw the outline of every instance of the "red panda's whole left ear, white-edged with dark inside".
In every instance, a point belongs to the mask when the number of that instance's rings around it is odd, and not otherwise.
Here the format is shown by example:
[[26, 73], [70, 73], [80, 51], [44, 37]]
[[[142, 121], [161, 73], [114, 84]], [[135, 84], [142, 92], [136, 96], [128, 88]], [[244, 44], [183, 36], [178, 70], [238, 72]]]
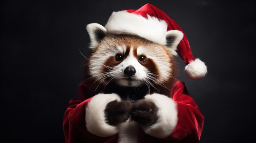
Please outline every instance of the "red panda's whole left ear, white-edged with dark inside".
[[90, 37], [90, 48], [93, 50], [99, 45], [103, 37], [105, 37], [107, 30], [105, 27], [98, 23], [88, 24], [86, 26], [86, 30]]

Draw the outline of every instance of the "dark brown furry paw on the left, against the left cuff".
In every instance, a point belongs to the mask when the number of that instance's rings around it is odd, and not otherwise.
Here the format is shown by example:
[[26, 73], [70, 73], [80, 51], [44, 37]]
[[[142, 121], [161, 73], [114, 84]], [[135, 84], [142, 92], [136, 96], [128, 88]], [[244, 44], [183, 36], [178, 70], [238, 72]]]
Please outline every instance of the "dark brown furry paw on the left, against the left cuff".
[[130, 118], [132, 103], [130, 101], [111, 101], [107, 104], [105, 112], [105, 121], [109, 125], [123, 123]]

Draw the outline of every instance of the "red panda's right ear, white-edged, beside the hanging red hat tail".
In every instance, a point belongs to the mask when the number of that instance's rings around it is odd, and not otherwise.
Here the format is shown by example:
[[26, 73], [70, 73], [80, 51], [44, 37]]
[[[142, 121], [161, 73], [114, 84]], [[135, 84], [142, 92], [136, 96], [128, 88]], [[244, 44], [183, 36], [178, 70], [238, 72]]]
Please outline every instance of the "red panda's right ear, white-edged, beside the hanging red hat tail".
[[177, 50], [177, 46], [183, 38], [183, 33], [178, 30], [170, 30], [166, 32], [166, 47], [173, 51]]

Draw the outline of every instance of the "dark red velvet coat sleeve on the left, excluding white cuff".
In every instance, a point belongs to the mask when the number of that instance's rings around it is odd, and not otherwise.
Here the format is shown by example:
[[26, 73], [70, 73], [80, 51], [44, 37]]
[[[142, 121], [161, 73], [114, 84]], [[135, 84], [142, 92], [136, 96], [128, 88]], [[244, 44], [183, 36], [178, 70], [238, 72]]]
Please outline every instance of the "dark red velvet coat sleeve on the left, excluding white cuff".
[[69, 107], [64, 113], [63, 131], [66, 143], [112, 143], [117, 137], [100, 137], [91, 134], [85, 126], [85, 107], [91, 98], [83, 101], [87, 87], [85, 84], [79, 85], [79, 99], [72, 99]]

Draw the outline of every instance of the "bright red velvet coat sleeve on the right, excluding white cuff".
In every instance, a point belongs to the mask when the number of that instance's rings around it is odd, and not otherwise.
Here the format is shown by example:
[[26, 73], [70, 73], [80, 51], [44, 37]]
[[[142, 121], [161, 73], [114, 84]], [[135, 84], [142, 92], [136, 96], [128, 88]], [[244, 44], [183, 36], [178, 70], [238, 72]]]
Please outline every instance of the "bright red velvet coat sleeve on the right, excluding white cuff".
[[173, 86], [171, 96], [177, 103], [178, 122], [168, 140], [178, 143], [198, 143], [204, 125], [204, 116], [189, 95], [184, 83], [178, 81]]

